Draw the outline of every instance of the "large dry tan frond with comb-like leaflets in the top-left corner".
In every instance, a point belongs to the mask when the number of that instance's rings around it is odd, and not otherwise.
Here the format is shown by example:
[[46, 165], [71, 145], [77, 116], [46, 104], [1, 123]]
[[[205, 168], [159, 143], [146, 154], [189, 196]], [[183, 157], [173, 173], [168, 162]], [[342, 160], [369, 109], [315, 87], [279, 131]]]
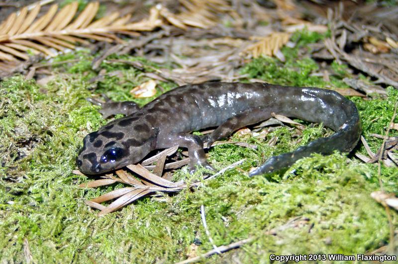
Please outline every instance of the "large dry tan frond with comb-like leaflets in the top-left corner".
[[155, 7], [147, 19], [135, 23], [128, 22], [131, 15], [120, 17], [118, 12], [95, 20], [99, 6], [99, 2], [90, 2], [78, 14], [78, 2], [65, 5], [60, 10], [57, 4], [53, 4], [38, 17], [41, 5], [37, 3], [30, 10], [23, 7], [11, 13], [0, 23], [0, 60], [27, 60], [28, 50], [54, 56], [53, 49], [73, 49], [77, 43], [87, 44], [86, 39], [122, 42], [116, 33], [134, 35], [136, 31], [153, 30], [162, 23]]

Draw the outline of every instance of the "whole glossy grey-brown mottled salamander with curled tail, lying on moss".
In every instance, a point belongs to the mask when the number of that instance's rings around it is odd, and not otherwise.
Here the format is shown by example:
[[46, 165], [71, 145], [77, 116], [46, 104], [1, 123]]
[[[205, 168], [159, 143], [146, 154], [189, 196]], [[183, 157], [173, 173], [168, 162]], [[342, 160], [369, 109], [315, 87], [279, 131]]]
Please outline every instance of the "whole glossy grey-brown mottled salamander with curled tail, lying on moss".
[[[349, 152], [362, 132], [355, 104], [335, 91], [320, 88], [204, 83], [166, 92], [143, 108], [133, 102], [92, 101], [102, 106], [104, 116], [127, 116], [84, 138], [77, 164], [85, 174], [119, 169], [139, 162], [151, 150], [175, 145], [188, 148], [191, 172], [196, 165], [211, 169], [204, 156], [204, 142], [211, 144], [241, 127], [270, 118], [272, 113], [323, 123], [336, 133], [294, 152], [272, 157], [250, 176], [289, 167], [311, 153]], [[204, 137], [189, 133], [207, 127], [217, 128]]]

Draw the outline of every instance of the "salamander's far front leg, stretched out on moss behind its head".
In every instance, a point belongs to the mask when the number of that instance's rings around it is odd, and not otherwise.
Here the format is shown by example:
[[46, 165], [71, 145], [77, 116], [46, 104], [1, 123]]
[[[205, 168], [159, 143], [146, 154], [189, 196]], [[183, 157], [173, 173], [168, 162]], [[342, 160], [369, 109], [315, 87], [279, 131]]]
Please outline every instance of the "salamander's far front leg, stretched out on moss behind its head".
[[105, 102], [94, 98], [87, 98], [87, 100], [95, 105], [101, 106], [99, 112], [105, 119], [115, 114], [129, 115], [135, 113], [140, 109], [139, 106], [133, 101], [113, 102], [107, 96], [103, 95], [103, 97], [105, 99]]

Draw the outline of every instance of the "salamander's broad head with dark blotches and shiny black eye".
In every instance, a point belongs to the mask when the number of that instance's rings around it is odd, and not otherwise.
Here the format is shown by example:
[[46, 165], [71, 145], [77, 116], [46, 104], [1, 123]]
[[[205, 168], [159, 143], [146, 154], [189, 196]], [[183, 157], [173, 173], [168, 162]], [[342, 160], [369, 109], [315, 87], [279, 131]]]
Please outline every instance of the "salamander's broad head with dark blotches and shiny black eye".
[[84, 138], [76, 163], [82, 173], [90, 175], [135, 164], [151, 151], [155, 136], [156, 131], [146, 124], [123, 129], [113, 121]]

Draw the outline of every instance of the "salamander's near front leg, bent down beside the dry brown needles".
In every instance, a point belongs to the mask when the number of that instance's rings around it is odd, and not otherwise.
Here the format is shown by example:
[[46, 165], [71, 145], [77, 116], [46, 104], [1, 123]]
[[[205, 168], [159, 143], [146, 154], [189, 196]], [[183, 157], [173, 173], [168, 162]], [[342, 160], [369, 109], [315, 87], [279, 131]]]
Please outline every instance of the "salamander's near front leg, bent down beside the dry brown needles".
[[214, 171], [214, 169], [207, 163], [206, 156], [203, 151], [203, 143], [199, 136], [192, 135], [189, 133], [178, 133], [167, 135], [165, 138], [158, 137], [157, 147], [168, 148], [175, 145], [180, 147], [188, 148], [188, 154], [190, 157], [190, 173], [193, 174], [196, 171], [195, 166], [199, 165], [208, 170]]

